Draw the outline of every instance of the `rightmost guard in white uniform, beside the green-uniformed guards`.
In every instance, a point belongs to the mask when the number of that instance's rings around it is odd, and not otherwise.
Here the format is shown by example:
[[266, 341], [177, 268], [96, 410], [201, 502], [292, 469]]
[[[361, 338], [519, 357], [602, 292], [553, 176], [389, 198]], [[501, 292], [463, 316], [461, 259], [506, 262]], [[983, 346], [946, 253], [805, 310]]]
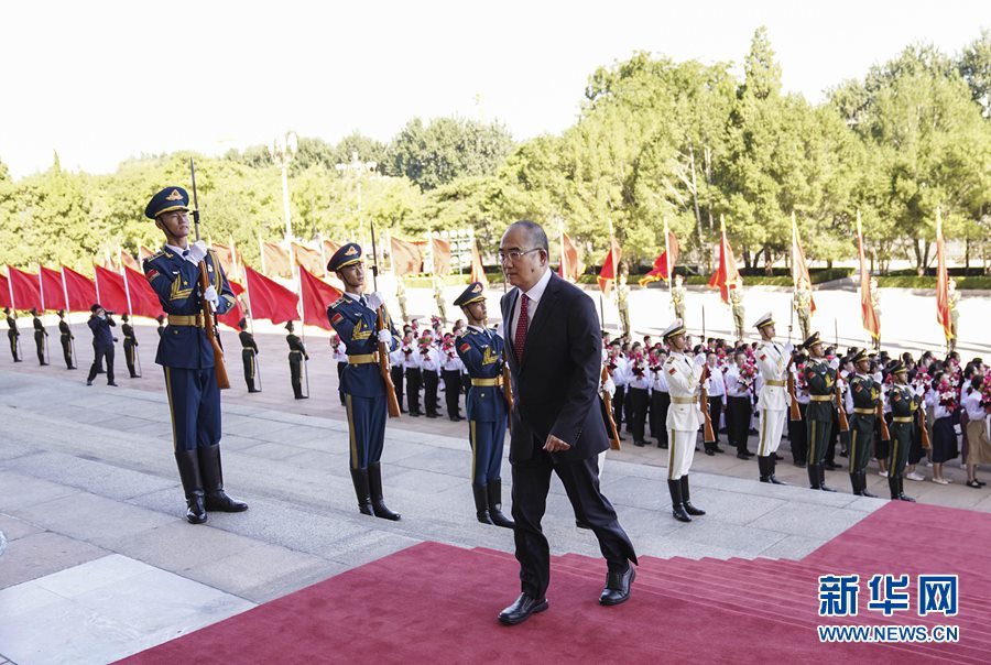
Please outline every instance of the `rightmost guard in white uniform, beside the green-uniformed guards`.
[[761, 482], [786, 484], [774, 477], [774, 454], [781, 445], [788, 412], [787, 374], [791, 370], [792, 344], [774, 341], [774, 318], [769, 312], [753, 325], [761, 335], [756, 349], [756, 364], [761, 373], [761, 426], [758, 444], [758, 467]]

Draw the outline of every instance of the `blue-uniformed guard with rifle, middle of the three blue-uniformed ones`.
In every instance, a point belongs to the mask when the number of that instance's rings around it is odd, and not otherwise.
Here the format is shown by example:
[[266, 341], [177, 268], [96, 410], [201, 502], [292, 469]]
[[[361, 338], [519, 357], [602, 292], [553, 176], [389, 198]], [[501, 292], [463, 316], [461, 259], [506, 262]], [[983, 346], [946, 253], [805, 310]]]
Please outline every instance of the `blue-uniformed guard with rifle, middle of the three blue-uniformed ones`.
[[375, 331], [382, 296], [364, 295], [364, 262], [361, 248], [348, 242], [334, 252], [327, 270], [337, 273], [345, 294], [327, 308], [327, 318], [340, 336], [348, 353], [341, 373], [345, 407], [348, 412], [351, 446], [351, 481], [358, 510], [385, 520], [399, 520], [382, 498], [382, 446], [385, 443], [385, 382], [379, 369], [379, 342], [389, 351], [399, 347], [399, 332], [383, 309], [385, 327]]

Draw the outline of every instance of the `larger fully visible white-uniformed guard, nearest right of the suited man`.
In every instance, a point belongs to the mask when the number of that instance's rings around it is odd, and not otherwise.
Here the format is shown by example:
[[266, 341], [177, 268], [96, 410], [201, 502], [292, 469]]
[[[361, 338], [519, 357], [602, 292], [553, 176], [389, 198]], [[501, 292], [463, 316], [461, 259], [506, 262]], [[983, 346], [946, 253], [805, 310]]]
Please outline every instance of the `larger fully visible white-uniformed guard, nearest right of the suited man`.
[[671, 393], [667, 408], [667, 490], [675, 520], [691, 522], [689, 515], [705, 515], [706, 511], [691, 505], [688, 492], [688, 470], [695, 458], [695, 441], [703, 423], [701, 391], [703, 366], [685, 355], [688, 341], [682, 319], [667, 327], [663, 335], [671, 347], [671, 356], [664, 361], [664, 374]]

